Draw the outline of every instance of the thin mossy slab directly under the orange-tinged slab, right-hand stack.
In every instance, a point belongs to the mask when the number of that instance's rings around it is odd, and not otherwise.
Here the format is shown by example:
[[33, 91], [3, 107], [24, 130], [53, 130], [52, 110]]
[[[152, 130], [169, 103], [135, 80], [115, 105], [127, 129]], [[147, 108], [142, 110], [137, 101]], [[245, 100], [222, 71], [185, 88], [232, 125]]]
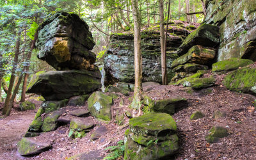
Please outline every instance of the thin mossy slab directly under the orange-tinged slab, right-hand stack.
[[179, 65], [173, 68], [173, 72], [188, 72], [195, 73], [198, 70], [208, 70], [207, 65], [199, 65], [195, 63], [186, 63], [185, 65]]

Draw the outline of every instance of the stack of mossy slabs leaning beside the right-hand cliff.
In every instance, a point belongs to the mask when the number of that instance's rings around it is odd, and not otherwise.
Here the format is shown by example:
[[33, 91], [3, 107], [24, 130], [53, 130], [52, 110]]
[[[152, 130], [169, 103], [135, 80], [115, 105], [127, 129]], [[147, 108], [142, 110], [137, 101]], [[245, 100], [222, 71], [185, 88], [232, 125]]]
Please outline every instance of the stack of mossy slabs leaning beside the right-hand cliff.
[[219, 43], [219, 28], [210, 24], [202, 24], [191, 33], [178, 49], [179, 58], [173, 61], [172, 69], [176, 73], [172, 81], [195, 74], [198, 70], [208, 70]]

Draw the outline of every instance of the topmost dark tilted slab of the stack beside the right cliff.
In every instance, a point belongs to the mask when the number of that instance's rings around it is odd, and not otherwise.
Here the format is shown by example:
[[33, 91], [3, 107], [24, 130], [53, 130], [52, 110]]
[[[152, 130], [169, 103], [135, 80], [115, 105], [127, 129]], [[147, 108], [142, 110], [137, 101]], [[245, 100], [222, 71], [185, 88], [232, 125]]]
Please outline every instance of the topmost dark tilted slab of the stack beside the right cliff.
[[180, 45], [178, 55], [186, 54], [194, 45], [215, 47], [220, 42], [219, 27], [211, 24], [202, 24], [193, 31]]

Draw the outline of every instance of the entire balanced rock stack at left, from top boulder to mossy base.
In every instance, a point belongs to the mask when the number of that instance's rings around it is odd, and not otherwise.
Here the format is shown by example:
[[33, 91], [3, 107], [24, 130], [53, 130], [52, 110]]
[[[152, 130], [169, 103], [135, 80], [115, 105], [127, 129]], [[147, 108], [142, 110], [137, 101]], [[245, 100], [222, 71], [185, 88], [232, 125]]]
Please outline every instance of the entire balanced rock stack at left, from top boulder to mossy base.
[[[99, 68], [93, 65], [96, 56], [91, 52], [95, 42], [88, 29], [78, 15], [67, 12], [51, 13], [38, 28], [37, 56], [57, 71], [38, 72], [28, 84], [27, 93], [40, 94], [46, 101], [38, 109], [26, 137], [53, 131], [59, 125], [58, 118], [66, 112], [70, 97], [82, 95], [74, 99], [85, 101], [101, 87]], [[74, 99], [70, 103], [78, 105]]]

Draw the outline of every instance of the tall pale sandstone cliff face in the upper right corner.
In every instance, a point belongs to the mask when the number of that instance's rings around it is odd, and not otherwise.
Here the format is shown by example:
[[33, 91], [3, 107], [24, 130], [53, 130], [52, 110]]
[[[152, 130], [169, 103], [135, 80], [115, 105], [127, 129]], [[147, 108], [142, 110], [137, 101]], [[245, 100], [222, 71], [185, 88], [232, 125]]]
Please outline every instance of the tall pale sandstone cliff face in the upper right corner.
[[207, 0], [205, 23], [220, 26], [218, 61], [248, 58], [256, 61], [256, 1]]

